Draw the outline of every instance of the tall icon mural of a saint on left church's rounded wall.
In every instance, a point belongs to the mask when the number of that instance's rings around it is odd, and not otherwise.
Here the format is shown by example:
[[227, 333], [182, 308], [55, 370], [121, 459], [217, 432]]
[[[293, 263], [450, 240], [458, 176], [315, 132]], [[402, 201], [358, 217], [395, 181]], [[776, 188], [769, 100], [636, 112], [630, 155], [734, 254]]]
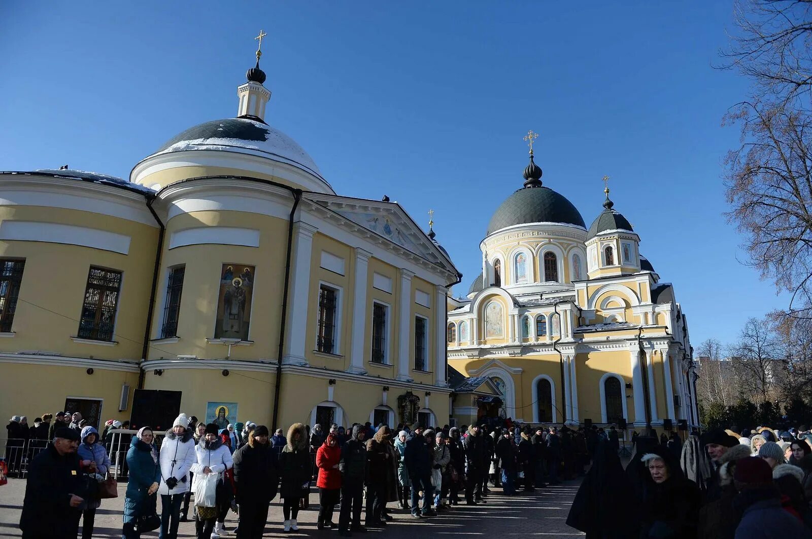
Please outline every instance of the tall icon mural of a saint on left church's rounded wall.
[[215, 339], [248, 340], [253, 280], [253, 266], [235, 263], [222, 265]]

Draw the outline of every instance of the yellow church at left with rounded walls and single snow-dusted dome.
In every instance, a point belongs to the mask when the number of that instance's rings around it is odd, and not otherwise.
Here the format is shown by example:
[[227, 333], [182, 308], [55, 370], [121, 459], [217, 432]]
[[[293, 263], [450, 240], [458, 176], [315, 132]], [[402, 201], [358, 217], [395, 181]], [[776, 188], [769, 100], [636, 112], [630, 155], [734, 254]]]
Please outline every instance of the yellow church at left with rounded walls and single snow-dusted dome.
[[268, 124], [260, 56], [235, 118], [127, 179], [0, 172], [0, 415], [447, 422], [460, 273], [403, 207], [337, 194]]

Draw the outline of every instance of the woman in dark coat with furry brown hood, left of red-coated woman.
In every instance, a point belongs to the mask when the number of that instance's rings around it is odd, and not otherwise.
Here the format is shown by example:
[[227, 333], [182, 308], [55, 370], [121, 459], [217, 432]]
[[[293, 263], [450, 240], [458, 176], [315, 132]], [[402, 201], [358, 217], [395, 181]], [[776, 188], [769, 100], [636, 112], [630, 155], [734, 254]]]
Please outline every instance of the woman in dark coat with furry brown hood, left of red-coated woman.
[[285, 517], [283, 529], [285, 532], [296, 532], [299, 530], [296, 521], [299, 500], [308, 494], [310, 478], [313, 476], [307, 429], [302, 423], [294, 423], [287, 430], [287, 444], [279, 455], [279, 472], [282, 476], [279, 493], [283, 500], [282, 512]]

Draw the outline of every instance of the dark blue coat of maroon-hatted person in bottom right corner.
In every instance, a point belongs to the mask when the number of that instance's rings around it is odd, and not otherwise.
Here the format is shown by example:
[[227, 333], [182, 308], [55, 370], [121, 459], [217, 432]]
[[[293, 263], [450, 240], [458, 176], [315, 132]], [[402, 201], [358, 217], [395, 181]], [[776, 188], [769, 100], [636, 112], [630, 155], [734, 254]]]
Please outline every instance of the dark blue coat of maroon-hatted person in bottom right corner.
[[741, 520], [736, 539], [810, 539], [812, 534], [793, 515], [781, 507], [774, 486], [742, 491], [736, 496]]

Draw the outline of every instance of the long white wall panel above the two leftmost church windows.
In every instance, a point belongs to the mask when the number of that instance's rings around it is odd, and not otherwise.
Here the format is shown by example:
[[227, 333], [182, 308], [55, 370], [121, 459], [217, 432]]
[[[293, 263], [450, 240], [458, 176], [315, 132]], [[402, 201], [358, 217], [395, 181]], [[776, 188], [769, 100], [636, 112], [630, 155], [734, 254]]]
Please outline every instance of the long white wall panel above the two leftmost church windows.
[[131, 237], [84, 226], [44, 221], [3, 220], [0, 222], [0, 240], [63, 243], [127, 255], [130, 251]]

